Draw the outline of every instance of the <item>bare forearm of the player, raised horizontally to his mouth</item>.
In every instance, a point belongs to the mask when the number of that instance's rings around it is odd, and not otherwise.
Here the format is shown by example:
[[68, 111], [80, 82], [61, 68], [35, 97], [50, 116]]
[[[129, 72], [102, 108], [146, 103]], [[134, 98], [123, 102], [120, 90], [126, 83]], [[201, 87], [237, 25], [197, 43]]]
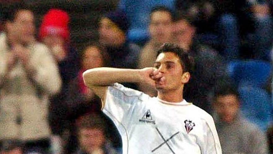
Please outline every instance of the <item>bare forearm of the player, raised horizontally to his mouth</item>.
[[87, 86], [107, 86], [115, 82], [141, 82], [140, 69], [93, 68], [83, 72]]

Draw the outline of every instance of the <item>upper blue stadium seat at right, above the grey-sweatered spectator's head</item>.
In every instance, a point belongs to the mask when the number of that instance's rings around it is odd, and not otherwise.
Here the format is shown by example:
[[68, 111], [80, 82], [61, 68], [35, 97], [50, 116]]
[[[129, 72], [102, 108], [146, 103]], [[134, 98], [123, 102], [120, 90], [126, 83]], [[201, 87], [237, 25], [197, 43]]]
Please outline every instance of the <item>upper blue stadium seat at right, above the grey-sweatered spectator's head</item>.
[[260, 60], [233, 61], [227, 73], [236, 85], [263, 87], [271, 76], [271, 63]]

